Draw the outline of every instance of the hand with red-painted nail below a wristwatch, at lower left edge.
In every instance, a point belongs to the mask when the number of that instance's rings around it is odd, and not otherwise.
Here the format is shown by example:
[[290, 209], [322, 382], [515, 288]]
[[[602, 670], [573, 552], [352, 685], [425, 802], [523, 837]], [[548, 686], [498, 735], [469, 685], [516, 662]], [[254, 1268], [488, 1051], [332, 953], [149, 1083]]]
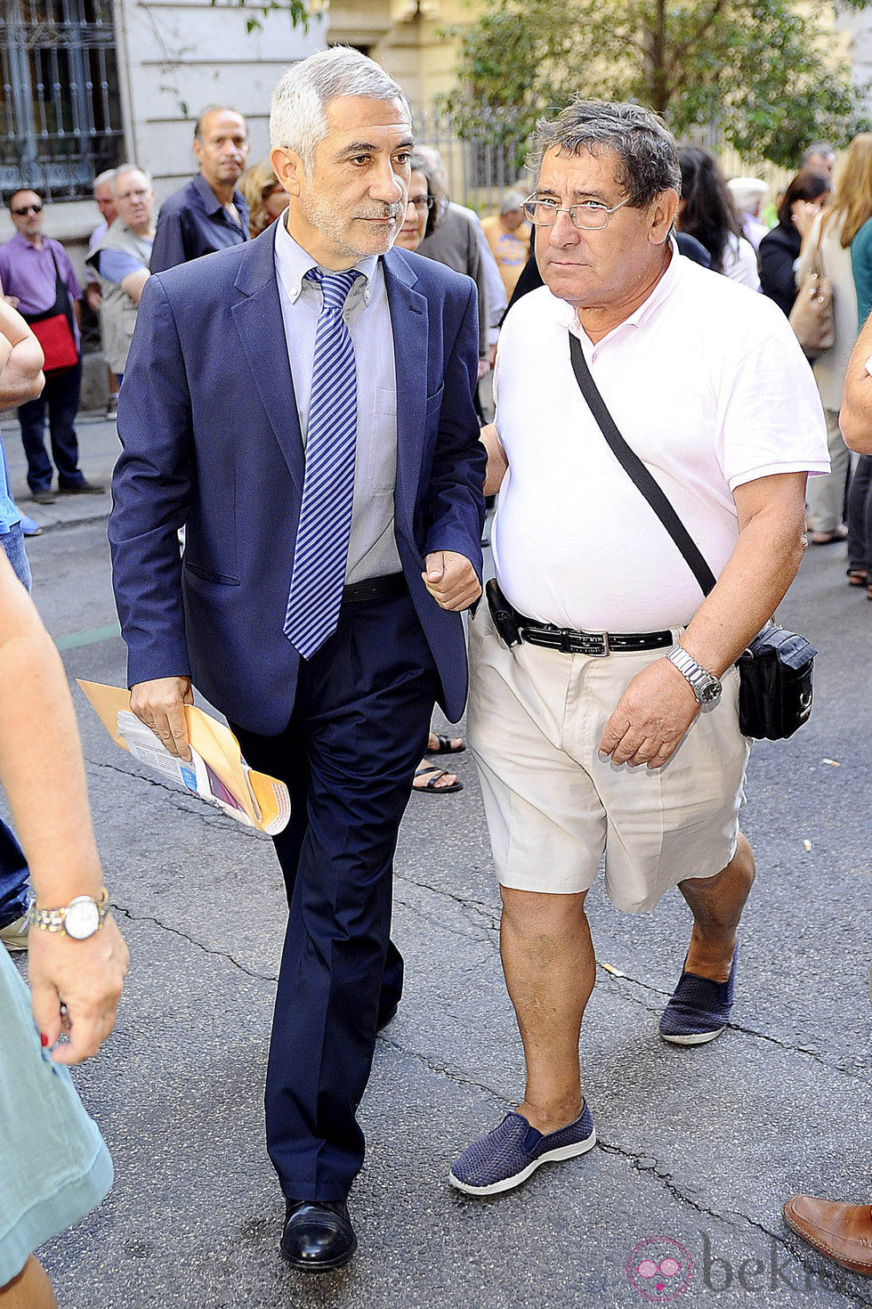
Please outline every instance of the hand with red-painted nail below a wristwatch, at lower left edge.
[[51, 1058], [75, 1064], [95, 1055], [115, 1026], [129, 959], [115, 919], [107, 914], [86, 941], [33, 927], [27, 954], [33, 1016], [43, 1043], [54, 1046], [61, 1031], [69, 1035], [69, 1045], [52, 1050]]

